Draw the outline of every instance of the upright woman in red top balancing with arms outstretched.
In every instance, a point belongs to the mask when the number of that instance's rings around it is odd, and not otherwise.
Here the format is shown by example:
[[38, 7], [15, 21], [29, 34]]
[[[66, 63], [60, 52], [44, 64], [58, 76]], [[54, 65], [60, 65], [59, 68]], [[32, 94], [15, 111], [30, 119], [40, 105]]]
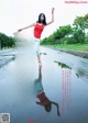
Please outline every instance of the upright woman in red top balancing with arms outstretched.
[[33, 23], [26, 27], [20, 29], [18, 30], [18, 32], [32, 27], [34, 26], [34, 37], [35, 37], [35, 44], [36, 44], [36, 54], [37, 54], [37, 60], [38, 60], [38, 65], [42, 67], [42, 63], [41, 63], [41, 56], [40, 56], [40, 40], [41, 40], [41, 34], [44, 30], [44, 27], [46, 25], [50, 25], [51, 23], [54, 22], [54, 8], [52, 9], [52, 21], [46, 23], [46, 18], [44, 13], [41, 13], [38, 15], [38, 20], [36, 21], [36, 23]]

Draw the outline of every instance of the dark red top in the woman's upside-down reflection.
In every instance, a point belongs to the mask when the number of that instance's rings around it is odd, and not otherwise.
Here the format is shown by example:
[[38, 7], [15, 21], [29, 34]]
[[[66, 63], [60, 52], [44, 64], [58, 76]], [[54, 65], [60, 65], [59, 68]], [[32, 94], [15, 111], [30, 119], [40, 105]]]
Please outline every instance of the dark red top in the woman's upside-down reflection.
[[51, 101], [46, 98], [45, 93], [42, 92], [40, 94], [37, 94], [37, 98], [40, 99], [41, 102], [38, 102], [42, 105], [46, 105], [48, 103], [51, 103]]

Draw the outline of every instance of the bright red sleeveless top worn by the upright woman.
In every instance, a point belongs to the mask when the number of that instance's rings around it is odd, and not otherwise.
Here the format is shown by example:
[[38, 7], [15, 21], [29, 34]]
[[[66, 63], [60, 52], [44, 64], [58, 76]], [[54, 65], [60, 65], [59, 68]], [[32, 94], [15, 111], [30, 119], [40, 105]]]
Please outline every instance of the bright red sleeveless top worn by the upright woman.
[[44, 30], [44, 24], [36, 23], [35, 26], [34, 26], [34, 36], [36, 38], [40, 38], [43, 30]]

